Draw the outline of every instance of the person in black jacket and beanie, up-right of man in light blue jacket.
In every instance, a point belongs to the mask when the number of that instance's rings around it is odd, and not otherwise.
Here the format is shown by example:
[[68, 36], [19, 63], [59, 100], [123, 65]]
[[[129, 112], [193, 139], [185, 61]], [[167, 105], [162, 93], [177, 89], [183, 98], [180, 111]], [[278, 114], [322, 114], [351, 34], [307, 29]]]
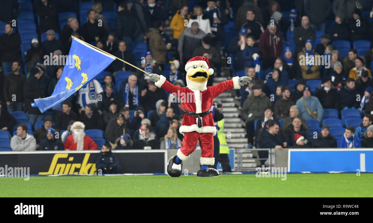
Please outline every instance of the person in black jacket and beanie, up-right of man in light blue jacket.
[[320, 86], [315, 90], [315, 96], [319, 99], [324, 109], [339, 109], [338, 91], [332, 85], [330, 76], [323, 76]]

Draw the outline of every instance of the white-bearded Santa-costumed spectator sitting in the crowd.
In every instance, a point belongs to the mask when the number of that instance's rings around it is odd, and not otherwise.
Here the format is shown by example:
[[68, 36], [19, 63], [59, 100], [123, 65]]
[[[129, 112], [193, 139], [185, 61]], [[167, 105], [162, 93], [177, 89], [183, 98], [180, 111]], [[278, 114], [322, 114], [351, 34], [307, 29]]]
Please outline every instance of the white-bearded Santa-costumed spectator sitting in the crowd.
[[69, 135], [63, 144], [65, 150], [97, 150], [97, 145], [91, 137], [84, 133], [84, 124], [80, 121], [73, 122], [71, 126], [72, 134]]

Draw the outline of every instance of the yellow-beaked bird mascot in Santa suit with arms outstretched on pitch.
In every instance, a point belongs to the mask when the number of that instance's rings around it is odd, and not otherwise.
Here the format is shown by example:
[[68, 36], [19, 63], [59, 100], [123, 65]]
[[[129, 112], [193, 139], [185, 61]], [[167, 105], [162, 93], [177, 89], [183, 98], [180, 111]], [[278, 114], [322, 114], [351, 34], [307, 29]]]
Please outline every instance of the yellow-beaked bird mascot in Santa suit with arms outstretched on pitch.
[[[195, 150], [197, 141], [201, 147], [201, 170], [197, 177], [220, 176], [219, 171], [214, 168], [207, 168], [207, 165], [214, 165], [214, 143], [213, 136], [216, 134], [211, 106], [214, 97], [229, 89], [239, 89], [241, 86], [250, 83], [250, 77], [233, 77], [213, 87], [206, 87], [207, 80], [214, 70], [210, 68], [209, 60], [202, 56], [196, 56], [185, 64], [186, 87], [178, 87], [166, 81], [166, 77], [158, 74], [150, 74], [149, 77], [162, 87], [166, 92], [177, 95], [184, 109], [184, 121], [180, 127], [180, 133], [184, 134], [182, 147], [177, 155], [171, 157], [167, 165], [167, 173], [171, 177], [181, 176], [182, 161], [189, 158]], [[184, 97], [183, 97], [184, 95]], [[185, 97], [186, 96], [186, 97]], [[192, 96], [192, 97], [191, 97]], [[192, 100], [190, 100], [192, 99]]]

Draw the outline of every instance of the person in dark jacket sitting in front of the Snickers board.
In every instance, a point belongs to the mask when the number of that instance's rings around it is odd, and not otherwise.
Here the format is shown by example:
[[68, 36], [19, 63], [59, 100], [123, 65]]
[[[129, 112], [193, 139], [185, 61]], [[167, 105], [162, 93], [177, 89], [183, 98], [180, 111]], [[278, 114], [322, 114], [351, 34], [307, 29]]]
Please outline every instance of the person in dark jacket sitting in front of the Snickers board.
[[100, 173], [122, 173], [122, 166], [119, 163], [119, 159], [112, 152], [112, 146], [110, 143], [106, 143], [102, 146], [101, 152], [98, 154], [96, 159], [97, 174]]

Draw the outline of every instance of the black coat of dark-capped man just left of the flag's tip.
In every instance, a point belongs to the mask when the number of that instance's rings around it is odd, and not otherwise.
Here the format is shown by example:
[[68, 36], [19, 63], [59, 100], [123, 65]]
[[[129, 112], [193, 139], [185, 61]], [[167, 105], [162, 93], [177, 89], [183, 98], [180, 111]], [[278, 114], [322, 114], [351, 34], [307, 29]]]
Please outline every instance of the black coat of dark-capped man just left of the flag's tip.
[[40, 115], [39, 108], [31, 106], [31, 103], [34, 103], [34, 99], [39, 97], [44, 98], [43, 87], [39, 84], [38, 78], [30, 74], [30, 77], [23, 83], [23, 96], [25, 112]]

